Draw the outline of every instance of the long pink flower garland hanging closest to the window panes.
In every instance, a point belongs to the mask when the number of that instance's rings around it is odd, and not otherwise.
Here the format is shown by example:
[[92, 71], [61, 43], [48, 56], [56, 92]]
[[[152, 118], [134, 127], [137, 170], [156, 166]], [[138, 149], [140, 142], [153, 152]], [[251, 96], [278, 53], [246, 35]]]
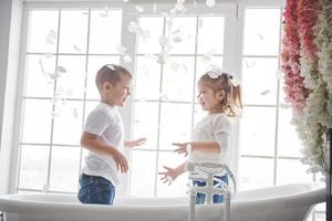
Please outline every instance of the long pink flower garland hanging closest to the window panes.
[[305, 106], [310, 91], [304, 87], [300, 73], [300, 38], [297, 18], [298, 0], [287, 0], [284, 17], [284, 35], [282, 39], [281, 69], [284, 73], [284, 92], [295, 114], [300, 114]]

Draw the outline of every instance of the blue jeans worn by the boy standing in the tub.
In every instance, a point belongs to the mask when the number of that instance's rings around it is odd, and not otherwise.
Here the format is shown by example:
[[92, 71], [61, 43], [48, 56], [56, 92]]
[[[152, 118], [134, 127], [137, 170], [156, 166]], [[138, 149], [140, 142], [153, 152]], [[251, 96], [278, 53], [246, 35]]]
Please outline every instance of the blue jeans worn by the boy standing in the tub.
[[82, 203], [113, 204], [115, 187], [107, 179], [82, 173], [80, 186], [77, 197]]

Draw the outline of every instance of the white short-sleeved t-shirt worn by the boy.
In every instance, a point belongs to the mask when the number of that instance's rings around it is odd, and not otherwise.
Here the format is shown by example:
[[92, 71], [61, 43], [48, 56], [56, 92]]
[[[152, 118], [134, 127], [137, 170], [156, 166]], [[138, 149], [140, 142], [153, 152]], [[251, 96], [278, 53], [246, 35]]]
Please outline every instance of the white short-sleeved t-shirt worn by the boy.
[[[84, 131], [97, 135], [121, 152], [124, 150], [124, 124], [116, 107], [100, 103], [87, 116]], [[110, 180], [113, 185], [118, 183], [116, 164], [113, 157], [89, 151], [85, 157], [83, 173], [100, 176]]]

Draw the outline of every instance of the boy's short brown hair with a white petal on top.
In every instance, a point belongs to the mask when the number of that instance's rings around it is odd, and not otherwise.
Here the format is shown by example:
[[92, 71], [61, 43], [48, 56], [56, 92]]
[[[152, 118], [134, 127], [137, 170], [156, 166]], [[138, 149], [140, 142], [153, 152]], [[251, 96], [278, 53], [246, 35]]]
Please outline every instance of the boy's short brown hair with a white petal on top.
[[116, 85], [121, 81], [121, 75], [133, 77], [131, 72], [125, 67], [116, 64], [105, 64], [95, 76], [95, 84], [97, 90], [101, 91], [105, 82]]

